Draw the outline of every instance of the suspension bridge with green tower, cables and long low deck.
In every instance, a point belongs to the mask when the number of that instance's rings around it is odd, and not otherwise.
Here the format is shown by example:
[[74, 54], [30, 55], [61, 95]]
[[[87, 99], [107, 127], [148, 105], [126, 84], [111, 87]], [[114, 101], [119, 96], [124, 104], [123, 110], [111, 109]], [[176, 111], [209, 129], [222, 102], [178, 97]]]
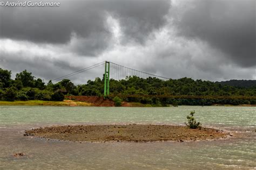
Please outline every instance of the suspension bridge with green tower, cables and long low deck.
[[161, 81], [170, 80], [168, 77], [155, 75], [151, 73], [146, 73], [137, 69], [133, 69], [130, 67], [122, 66], [114, 62], [103, 61], [96, 63], [95, 65], [77, 70], [76, 72], [72, 72], [70, 74], [66, 74], [64, 76], [58, 77], [57, 79], [53, 79], [52, 82], [57, 82], [63, 79], [67, 79], [69, 77], [75, 76], [77, 74], [89, 71], [94, 68], [98, 68], [100, 66], [105, 66], [103, 70], [104, 73], [104, 98], [106, 97], [157, 97], [157, 98], [197, 98], [197, 99], [244, 99], [244, 100], [252, 100], [256, 99], [256, 96], [217, 96], [217, 95], [124, 95], [124, 94], [110, 94], [110, 80], [122, 80], [127, 79], [127, 77], [137, 76], [139, 78], [147, 79], [148, 77], [156, 77]]

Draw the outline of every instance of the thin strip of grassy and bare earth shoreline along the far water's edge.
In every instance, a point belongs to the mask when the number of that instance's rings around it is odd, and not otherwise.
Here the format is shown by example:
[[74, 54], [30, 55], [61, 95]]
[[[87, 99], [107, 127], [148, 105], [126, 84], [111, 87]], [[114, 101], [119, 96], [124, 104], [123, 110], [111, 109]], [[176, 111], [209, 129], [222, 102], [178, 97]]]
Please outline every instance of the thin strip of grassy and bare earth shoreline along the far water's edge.
[[[114, 107], [111, 105], [100, 105], [93, 104], [90, 102], [80, 102], [73, 100], [64, 100], [64, 101], [39, 101], [39, 100], [30, 100], [30, 101], [0, 101], [0, 105], [45, 105], [45, 106], [67, 106], [67, 107]], [[197, 105], [201, 106], [201, 105]], [[212, 104], [210, 106], [225, 106], [225, 107], [256, 107], [256, 104], [240, 104], [240, 105], [231, 105], [231, 104]], [[123, 102], [122, 107], [154, 107], [151, 104], [142, 104], [136, 102]], [[173, 105], [167, 107], [174, 107]], [[205, 107], [205, 106], [203, 106]]]

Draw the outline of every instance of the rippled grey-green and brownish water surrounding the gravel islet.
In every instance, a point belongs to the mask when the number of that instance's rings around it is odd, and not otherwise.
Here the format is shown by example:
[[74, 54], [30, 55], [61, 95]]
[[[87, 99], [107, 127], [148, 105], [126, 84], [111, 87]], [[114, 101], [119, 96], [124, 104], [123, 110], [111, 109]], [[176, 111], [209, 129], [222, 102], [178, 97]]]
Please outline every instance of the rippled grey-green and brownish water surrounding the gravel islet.
[[[184, 125], [197, 121], [228, 139], [154, 143], [75, 143], [24, 137], [24, 130], [63, 124]], [[0, 106], [0, 169], [256, 169], [255, 107], [115, 108]], [[14, 153], [23, 152], [15, 158]]]

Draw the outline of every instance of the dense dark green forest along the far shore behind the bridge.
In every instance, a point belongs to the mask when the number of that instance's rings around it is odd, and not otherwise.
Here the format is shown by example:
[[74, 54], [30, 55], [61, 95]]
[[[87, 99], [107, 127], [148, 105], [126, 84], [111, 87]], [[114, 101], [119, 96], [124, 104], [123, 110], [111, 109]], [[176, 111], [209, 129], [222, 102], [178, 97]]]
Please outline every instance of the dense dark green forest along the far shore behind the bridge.
[[[24, 70], [11, 79], [11, 71], [0, 68], [0, 100], [45, 100], [62, 101], [65, 95], [103, 96], [104, 79], [97, 77], [86, 84], [75, 86], [64, 79], [57, 83], [50, 80], [47, 84], [36, 79], [32, 73]], [[170, 79], [163, 81], [156, 77], [146, 79], [130, 76], [125, 80], [110, 80], [110, 94], [118, 95], [245, 95], [255, 96], [256, 86], [234, 87], [211, 81], [193, 80], [191, 78]], [[256, 104], [256, 100], [207, 100], [207, 99], [172, 99], [129, 97], [127, 102], [140, 102], [152, 105], [212, 105], [212, 104]]]

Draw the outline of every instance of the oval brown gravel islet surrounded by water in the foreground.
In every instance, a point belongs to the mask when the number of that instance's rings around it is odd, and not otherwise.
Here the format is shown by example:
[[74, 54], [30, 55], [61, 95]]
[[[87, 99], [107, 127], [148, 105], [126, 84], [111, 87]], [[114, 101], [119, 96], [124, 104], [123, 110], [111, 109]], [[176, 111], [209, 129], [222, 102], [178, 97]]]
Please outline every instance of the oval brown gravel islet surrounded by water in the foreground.
[[226, 138], [231, 134], [211, 128], [174, 125], [68, 125], [26, 130], [24, 136], [70, 141], [196, 141]]

